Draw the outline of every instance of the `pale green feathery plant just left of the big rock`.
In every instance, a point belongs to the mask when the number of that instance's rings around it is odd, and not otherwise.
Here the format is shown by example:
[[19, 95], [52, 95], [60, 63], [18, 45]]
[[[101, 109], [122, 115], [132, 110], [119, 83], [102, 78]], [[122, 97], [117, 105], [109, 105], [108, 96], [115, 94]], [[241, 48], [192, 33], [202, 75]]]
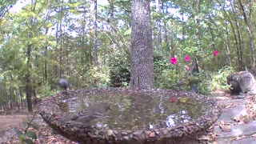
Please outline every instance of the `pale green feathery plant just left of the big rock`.
[[226, 83], [226, 78], [229, 74], [234, 72], [234, 69], [230, 66], [224, 66], [222, 69], [216, 72], [210, 72], [211, 76], [211, 90], [228, 89], [229, 86]]

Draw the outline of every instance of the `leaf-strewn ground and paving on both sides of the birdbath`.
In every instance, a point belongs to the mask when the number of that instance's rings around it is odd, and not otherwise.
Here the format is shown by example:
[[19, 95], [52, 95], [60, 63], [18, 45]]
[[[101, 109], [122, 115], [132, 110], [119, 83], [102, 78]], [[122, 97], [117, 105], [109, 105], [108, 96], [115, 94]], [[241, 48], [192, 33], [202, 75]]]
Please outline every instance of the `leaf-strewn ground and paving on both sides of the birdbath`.
[[[256, 114], [251, 108], [255, 105], [248, 98], [238, 99], [225, 90], [217, 90], [213, 94], [215, 100], [222, 107], [222, 115], [218, 121], [210, 127], [208, 133], [199, 138], [200, 143], [245, 143], [256, 142], [254, 130], [244, 130], [245, 127], [255, 127]], [[247, 111], [246, 114], [242, 114]], [[28, 119], [32, 118], [33, 114], [12, 114], [0, 115], [0, 143], [20, 143], [16, 130], [26, 130]], [[67, 143], [73, 144], [70, 140], [57, 134], [44, 122], [40, 114], [35, 114], [33, 122], [36, 124], [28, 129], [37, 134], [37, 139], [34, 143]], [[239, 127], [240, 126], [240, 127]], [[256, 129], [256, 127], [255, 127]], [[240, 133], [237, 133], [240, 131]], [[256, 130], [255, 130], [256, 133]]]

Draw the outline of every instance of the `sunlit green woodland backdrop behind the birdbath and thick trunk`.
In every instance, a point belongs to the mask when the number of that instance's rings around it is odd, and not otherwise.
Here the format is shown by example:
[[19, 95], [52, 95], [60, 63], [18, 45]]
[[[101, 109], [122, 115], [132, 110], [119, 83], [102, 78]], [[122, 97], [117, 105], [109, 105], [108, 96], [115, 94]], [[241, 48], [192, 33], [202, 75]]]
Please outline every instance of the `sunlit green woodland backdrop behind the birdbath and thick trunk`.
[[[26, 5], [12, 11], [21, 2]], [[0, 3], [1, 112], [54, 94], [59, 78], [71, 90], [130, 85], [129, 0]], [[154, 87], [178, 89], [183, 82], [188, 90], [193, 82], [198, 93], [210, 94], [226, 88], [234, 70], [255, 74], [255, 6], [252, 0], [150, 1]], [[194, 58], [200, 70], [188, 76]]]

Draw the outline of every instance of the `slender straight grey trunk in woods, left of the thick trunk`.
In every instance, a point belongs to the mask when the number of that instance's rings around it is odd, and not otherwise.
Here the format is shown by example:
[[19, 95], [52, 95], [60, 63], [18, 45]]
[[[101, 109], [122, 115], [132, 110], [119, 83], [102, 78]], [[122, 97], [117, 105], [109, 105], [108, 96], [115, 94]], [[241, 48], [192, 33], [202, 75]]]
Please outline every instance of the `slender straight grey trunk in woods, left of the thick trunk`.
[[97, 0], [94, 0], [94, 66], [98, 66]]

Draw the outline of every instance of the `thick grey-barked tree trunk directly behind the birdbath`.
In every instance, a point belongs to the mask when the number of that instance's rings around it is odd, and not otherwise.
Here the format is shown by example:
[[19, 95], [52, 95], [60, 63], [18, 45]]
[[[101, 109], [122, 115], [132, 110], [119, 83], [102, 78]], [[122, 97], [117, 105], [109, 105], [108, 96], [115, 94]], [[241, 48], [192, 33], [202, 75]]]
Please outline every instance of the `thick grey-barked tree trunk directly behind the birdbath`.
[[154, 87], [150, 0], [132, 1], [131, 78], [133, 88]]

